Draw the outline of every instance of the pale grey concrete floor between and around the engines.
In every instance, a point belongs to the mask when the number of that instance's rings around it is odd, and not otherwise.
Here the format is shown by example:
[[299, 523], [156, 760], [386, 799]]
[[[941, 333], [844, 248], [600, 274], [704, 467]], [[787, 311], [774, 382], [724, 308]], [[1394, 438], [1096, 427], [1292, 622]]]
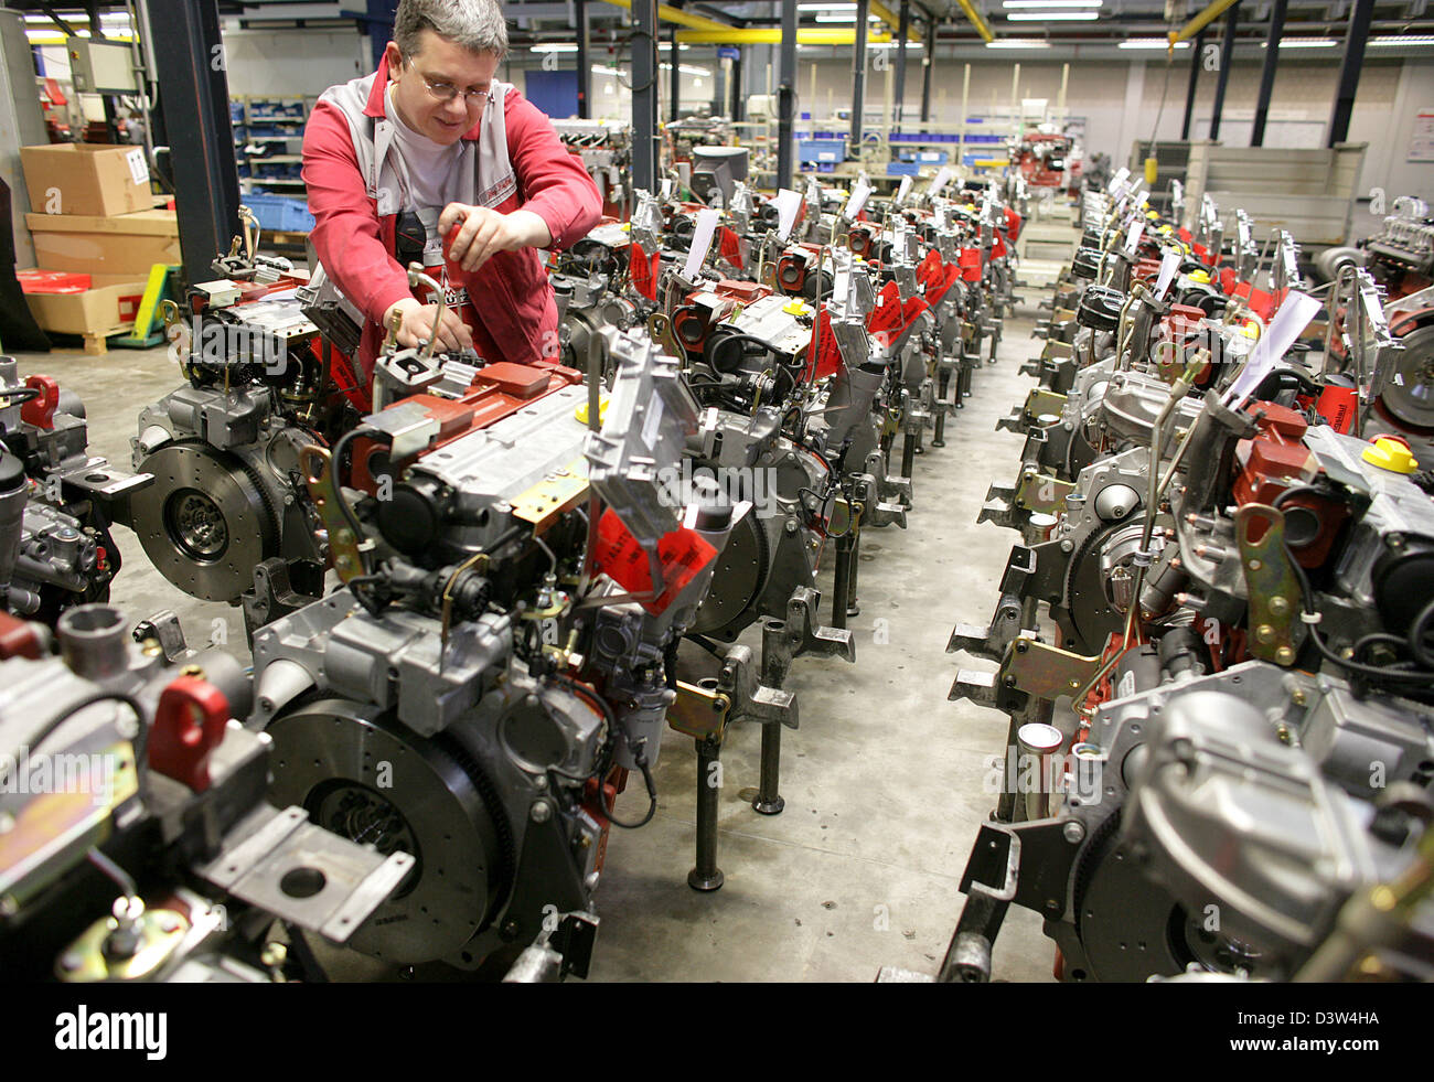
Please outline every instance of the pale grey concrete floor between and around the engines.
[[[723, 750], [718, 864], [726, 886], [700, 894], [693, 866], [695, 755], [667, 731], [655, 770], [658, 813], [637, 831], [614, 830], [598, 889], [602, 927], [592, 980], [873, 980], [882, 966], [935, 972], [962, 906], [958, 893], [977, 828], [994, 804], [987, 762], [1007, 718], [946, 692], [964, 659], [945, 652], [954, 623], [989, 621], [1014, 530], [977, 526], [987, 486], [1010, 483], [1021, 437], [994, 431], [1031, 386], [1017, 365], [1038, 353], [1034, 302], [1008, 320], [999, 363], [982, 365], [974, 396], [946, 426], [946, 446], [916, 460], [909, 529], [862, 539], [860, 615], [850, 621], [856, 665], [800, 658], [787, 688], [802, 728], [783, 739], [786, 811], [756, 814], [760, 729], [739, 727]], [[49, 373], [89, 411], [90, 453], [129, 463], [139, 410], [181, 377], [162, 348], [19, 355], [22, 374]], [[113, 602], [139, 619], [179, 613], [192, 646], [227, 639], [247, 659], [237, 609], [169, 585], [132, 533], [116, 527], [123, 570]], [[823, 598], [832, 596], [830, 568]], [[823, 612], [827, 608], [823, 605]], [[744, 636], [760, 655], [760, 635]], [[706, 655], [684, 645], [684, 662]], [[978, 662], [979, 664], [979, 662]], [[684, 676], [688, 674], [684, 674]], [[619, 814], [645, 810], [630, 787]], [[1011, 910], [995, 975], [1050, 980], [1053, 946], [1041, 920]]]

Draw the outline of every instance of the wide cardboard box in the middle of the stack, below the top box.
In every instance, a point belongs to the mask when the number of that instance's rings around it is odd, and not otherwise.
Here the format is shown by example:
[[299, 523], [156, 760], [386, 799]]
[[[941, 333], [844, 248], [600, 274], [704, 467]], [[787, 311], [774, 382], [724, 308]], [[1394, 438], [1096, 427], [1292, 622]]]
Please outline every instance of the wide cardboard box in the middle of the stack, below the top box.
[[179, 222], [174, 211], [136, 211], [112, 218], [80, 214], [27, 214], [34, 261], [46, 271], [149, 274], [155, 264], [179, 264]]

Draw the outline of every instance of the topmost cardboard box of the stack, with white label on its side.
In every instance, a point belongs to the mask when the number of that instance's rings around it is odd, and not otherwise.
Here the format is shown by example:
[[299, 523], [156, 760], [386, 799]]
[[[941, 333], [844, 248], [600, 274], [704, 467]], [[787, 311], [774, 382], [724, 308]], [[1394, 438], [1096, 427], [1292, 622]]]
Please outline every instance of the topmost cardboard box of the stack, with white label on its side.
[[142, 146], [22, 146], [20, 165], [36, 214], [115, 215], [153, 206]]

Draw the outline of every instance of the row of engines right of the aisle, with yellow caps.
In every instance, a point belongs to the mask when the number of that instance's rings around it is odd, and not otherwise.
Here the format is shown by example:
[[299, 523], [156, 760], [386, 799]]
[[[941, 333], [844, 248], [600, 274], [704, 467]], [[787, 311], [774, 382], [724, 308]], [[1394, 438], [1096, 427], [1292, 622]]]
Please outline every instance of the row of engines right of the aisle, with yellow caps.
[[989, 980], [1020, 906], [1064, 980], [1428, 980], [1420, 324], [1209, 196], [1166, 222], [1121, 175], [1081, 209], [981, 512], [1021, 539], [949, 643], [1010, 735], [941, 977]]

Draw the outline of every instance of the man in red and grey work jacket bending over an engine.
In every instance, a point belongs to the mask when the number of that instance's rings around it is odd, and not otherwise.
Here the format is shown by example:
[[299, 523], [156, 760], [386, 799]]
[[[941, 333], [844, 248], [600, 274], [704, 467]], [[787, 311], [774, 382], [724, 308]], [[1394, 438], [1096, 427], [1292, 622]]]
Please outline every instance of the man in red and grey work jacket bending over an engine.
[[[386, 327], [419, 345], [435, 305], [409, 289], [417, 259], [439, 277], [447, 246], [463, 282], [439, 347], [486, 361], [558, 355], [558, 310], [538, 255], [581, 239], [602, 198], [548, 118], [495, 76], [508, 29], [495, 0], [403, 0], [377, 73], [324, 92], [304, 130], [313, 242], [367, 317], [367, 377]], [[466, 292], [465, 292], [466, 285]]]

